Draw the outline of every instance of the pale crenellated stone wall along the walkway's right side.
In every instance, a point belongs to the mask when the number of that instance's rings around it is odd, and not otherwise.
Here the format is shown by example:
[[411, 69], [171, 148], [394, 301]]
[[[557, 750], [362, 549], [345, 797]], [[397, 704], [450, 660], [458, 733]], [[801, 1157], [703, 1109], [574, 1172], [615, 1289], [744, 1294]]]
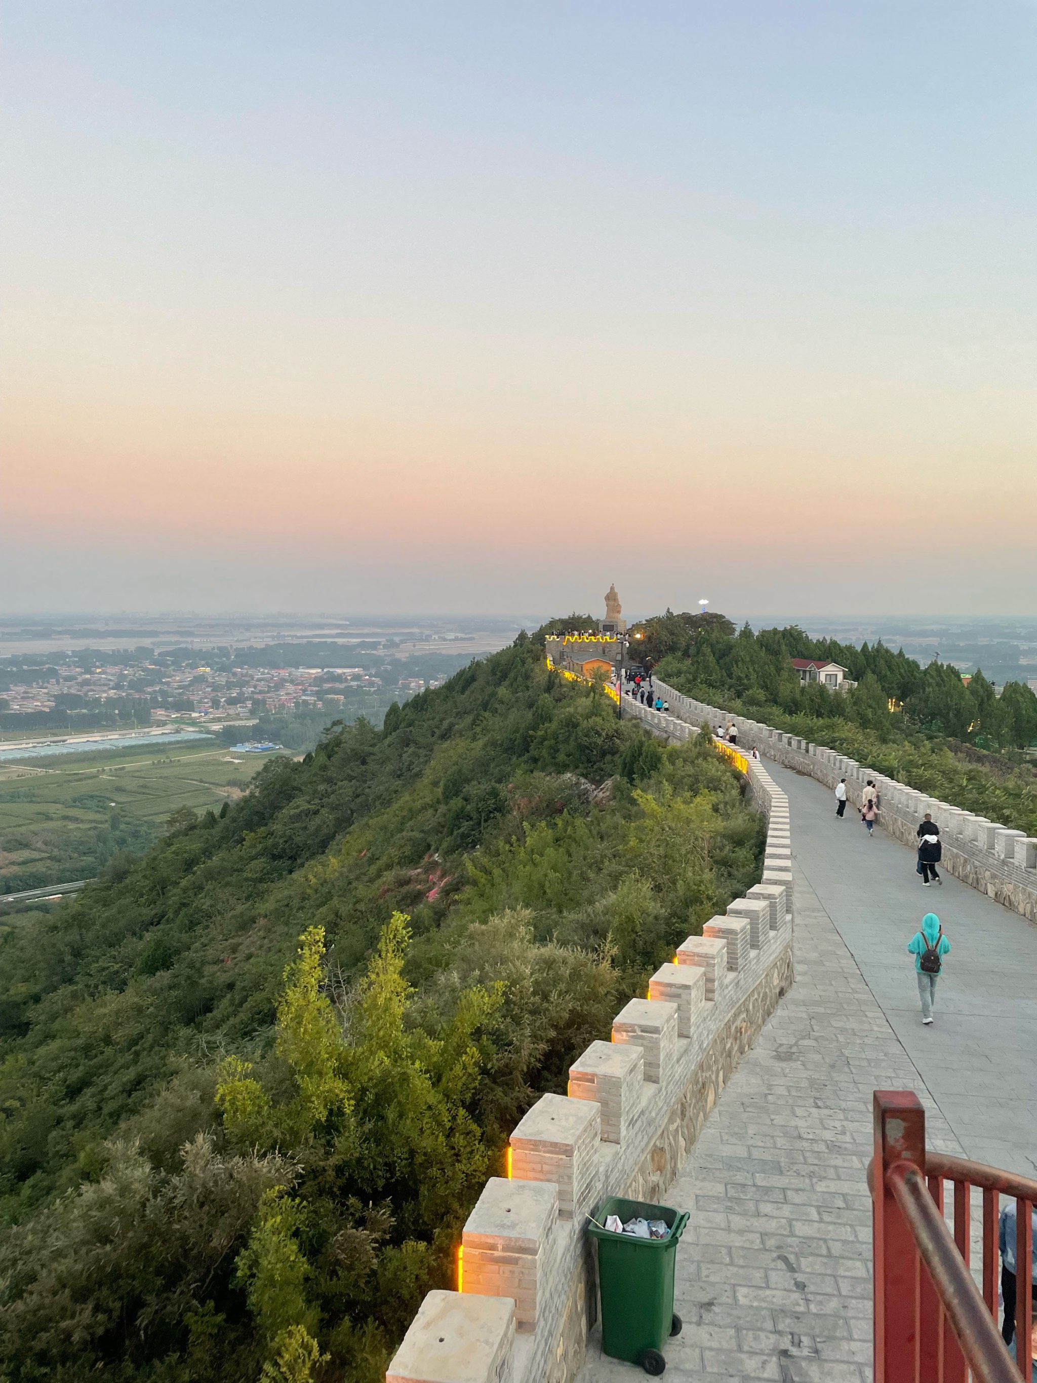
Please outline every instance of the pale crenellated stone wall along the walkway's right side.
[[[734, 722], [738, 727], [738, 748], [749, 750], [755, 745], [765, 759], [783, 763], [796, 773], [809, 773], [832, 790], [839, 779], [845, 777], [846, 797], [852, 806], [860, 808], [864, 786], [871, 779], [879, 790], [879, 826], [904, 845], [911, 848], [918, 845], [918, 824], [929, 812], [940, 828], [943, 842], [940, 869], [996, 902], [1004, 903], [1012, 911], [1037, 921], [1037, 838], [904, 787], [903, 783], [857, 763], [845, 754], [837, 754], [835, 750], [812, 744], [784, 730], [774, 730], [758, 721], [731, 715], [715, 705], [683, 696], [658, 678], [654, 680], [658, 694], [669, 701], [669, 719], [682, 719], [690, 727], [702, 722], [725, 726]], [[630, 698], [624, 697], [622, 714], [629, 715], [632, 707]], [[635, 714], [644, 709], [637, 705]]]

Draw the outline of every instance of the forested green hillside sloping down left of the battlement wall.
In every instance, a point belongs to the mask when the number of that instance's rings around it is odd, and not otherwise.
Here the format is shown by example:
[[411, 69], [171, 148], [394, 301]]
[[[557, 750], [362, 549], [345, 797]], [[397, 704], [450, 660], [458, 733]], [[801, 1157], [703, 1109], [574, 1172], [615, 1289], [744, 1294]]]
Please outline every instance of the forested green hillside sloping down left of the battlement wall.
[[0, 939], [0, 1377], [368, 1380], [507, 1131], [759, 877], [520, 636]]

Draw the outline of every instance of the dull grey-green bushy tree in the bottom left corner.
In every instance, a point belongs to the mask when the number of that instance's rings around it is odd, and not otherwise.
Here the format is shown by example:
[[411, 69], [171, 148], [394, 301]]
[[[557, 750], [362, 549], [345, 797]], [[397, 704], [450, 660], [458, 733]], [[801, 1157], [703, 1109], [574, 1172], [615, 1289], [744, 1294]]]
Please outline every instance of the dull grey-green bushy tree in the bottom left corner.
[[[156, 1376], [181, 1351], [194, 1358], [184, 1383], [254, 1376], [231, 1264], [264, 1195], [297, 1174], [279, 1153], [225, 1156], [206, 1134], [171, 1174], [136, 1144], [108, 1144], [95, 1181], [0, 1236], [3, 1376]], [[228, 1337], [243, 1371], [213, 1373], [210, 1351]]]

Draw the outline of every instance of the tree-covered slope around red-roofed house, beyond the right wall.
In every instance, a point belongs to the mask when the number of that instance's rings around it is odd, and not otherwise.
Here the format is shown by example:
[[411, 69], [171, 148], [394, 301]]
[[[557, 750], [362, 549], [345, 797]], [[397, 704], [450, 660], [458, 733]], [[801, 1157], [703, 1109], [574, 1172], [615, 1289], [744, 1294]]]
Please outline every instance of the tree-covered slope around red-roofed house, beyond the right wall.
[[[802, 629], [736, 633], [723, 615], [666, 611], [633, 629], [662, 680], [689, 696], [802, 734], [870, 768], [994, 822], [1037, 833], [1037, 696], [1008, 682], [996, 696], [978, 671], [962, 682], [946, 662], [919, 667], [882, 643], [860, 649]], [[792, 658], [827, 658], [857, 686], [801, 686]]]

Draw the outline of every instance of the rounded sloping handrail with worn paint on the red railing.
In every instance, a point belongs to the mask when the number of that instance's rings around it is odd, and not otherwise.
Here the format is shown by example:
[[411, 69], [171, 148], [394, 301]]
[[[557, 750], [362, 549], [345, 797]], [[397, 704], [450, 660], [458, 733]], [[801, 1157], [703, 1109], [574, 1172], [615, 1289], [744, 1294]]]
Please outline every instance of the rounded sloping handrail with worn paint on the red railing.
[[[926, 1155], [926, 1170], [931, 1170], [933, 1156]], [[960, 1158], [951, 1160], [966, 1164]], [[929, 1194], [922, 1173], [910, 1162], [895, 1162], [886, 1171], [886, 1185], [911, 1228], [911, 1236], [929, 1270], [950, 1328], [978, 1383], [1019, 1383], [1019, 1371], [987, 1310], [983, 1294], [965, 1267], [947, 1223]]]

